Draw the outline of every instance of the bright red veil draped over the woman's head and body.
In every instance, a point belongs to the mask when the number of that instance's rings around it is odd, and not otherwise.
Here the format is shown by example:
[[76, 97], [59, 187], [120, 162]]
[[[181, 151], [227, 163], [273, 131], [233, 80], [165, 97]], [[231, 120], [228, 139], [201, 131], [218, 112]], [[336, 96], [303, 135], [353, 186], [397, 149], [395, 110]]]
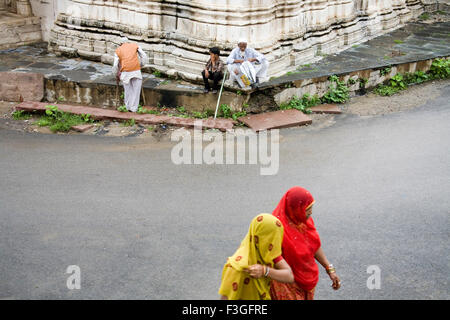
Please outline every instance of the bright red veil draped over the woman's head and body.
[[283, 258], [292, 268], [295, 282], [304, 290], [312, 290], [319, 280], [314, 255], [320, 248], [320, 237], [313, 219], [306, 219], [306, 210], [313, 203], [308, 190], [293, 187], [272, 213], [284, 226]]

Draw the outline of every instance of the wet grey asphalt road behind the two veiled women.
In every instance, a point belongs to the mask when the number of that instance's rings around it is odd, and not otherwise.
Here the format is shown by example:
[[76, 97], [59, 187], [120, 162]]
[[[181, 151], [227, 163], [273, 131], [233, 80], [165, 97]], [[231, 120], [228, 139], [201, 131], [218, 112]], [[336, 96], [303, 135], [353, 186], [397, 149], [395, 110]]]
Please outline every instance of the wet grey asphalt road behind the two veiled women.
[[176, 166], [168, 143], [0, 127], [0, 298], [216, 299], [251, 218], [301, 185], [342, 279], [335, 292], [321, 270], [316, 299], [449, 299], [449, 101], [447, 86], [411, 111], [281, 130], [274, 176]]

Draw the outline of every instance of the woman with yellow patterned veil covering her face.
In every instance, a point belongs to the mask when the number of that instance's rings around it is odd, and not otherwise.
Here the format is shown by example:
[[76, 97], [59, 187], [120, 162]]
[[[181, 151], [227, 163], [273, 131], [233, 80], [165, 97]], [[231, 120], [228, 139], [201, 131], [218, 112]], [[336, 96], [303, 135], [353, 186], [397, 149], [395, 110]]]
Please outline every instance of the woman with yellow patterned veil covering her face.
[[270, 214], [253, 218], [239, 249], [222, 271], [219, 294], [228, 300], [270, 300], [270, 280], [293, 283], [291, 268], [281, 257], [283, 225]]

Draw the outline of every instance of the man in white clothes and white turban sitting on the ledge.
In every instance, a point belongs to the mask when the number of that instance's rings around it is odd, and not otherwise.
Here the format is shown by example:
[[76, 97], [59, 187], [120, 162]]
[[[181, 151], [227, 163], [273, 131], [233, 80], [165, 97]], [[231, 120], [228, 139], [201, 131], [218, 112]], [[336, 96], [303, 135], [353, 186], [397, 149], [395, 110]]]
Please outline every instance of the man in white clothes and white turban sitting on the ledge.
[[247, 85], [242, 81], [240, 66], [245, 62], [250, 62], [256, 71], [256, 83], [267, 81], [267, 70], [269, 68], [269, 62], [263, 54], [257, 52], [253, 48], [247, 47], [246, 39], [239, 39], [238, 47], [231, 51], [228, 56], [227, 64], [228, 71], [230, 73], [230, 80], [228, 85], [233, 85], [234, 81], [237, 81], [243, 88]]

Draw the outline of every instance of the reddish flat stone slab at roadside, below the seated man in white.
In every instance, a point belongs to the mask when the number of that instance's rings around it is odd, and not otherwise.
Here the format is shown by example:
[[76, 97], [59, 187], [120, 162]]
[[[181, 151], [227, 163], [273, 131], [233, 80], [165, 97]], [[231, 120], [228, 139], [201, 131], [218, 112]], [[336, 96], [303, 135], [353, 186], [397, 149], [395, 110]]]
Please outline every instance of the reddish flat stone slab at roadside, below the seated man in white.
[[312, 119], [296, 109], [279, 110], [238, 118], [254, 131], [281, 129], [311, 124]]

